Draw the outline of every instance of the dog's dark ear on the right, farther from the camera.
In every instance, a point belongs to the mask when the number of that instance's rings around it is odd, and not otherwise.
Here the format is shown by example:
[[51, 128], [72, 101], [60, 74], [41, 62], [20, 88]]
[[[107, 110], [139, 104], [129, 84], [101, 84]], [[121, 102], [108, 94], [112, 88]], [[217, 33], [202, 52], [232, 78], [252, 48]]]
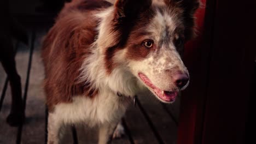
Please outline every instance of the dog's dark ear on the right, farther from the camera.
[[196, 9], [201, 5], [200, 0], [165, 0], [167, 5], [179, 7], [183, 9], [184, 25], [185, 25], [185, 39], [189, 40], [195, 37], [195, 19], [194, 14]]

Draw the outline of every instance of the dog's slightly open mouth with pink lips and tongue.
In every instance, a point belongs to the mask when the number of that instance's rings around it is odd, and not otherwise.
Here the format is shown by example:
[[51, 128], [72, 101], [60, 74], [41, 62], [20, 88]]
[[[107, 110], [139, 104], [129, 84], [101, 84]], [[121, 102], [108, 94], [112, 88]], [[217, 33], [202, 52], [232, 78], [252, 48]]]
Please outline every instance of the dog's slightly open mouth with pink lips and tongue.
[[156, 87], [155, 85], [153, 85], [153, 83], [148, 79], [148, 77], [142, 73], [138, 73], [139, 77], [141, 78], [141, 80], [149, 87], [149, 89], [151, 91], [153, 91], [155, 93], [156, 96], [158, 96], [158, 98], [166, 103], [171, 103], [173, 101], [175, 101], [178, 92], [173, 92], [173, 91], [164, 91], [161, 90], [160, 88]]

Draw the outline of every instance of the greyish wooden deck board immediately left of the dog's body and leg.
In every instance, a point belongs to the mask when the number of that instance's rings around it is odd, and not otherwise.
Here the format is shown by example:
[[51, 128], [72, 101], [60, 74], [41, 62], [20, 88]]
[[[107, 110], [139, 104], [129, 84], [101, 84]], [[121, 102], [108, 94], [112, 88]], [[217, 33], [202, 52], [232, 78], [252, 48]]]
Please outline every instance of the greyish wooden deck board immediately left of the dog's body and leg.
[[44, 69], [40, 58], [40, 41], [45, 33], [36, 32], [26, 101], [26, 123], [21, 136], [21, 143], [24, 144], [44, 143], [45, 139], [45, 100], [42, 88]]

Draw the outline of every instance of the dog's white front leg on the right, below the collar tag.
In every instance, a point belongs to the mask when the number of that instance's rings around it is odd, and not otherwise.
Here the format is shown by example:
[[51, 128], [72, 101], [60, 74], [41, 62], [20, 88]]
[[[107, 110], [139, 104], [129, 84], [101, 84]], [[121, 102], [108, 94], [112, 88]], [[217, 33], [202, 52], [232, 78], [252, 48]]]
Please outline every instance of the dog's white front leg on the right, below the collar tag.
[[99, 131], [98, 144], [111, 143], [112, 136], [118, 123], [105, 123], [101, 125]]

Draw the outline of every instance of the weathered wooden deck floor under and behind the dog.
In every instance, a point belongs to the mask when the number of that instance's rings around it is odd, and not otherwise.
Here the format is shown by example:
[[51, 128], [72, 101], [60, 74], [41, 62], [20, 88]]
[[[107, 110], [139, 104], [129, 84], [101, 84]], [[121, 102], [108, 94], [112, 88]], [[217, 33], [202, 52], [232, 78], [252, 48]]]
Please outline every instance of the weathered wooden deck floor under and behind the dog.
[[[28, 1], [28, 0], [27, 0]], [[22, 15], [24, 17], [24, 15]], [[18, 19], [22, 16], [18, 15]], [[30, 15], [31, 16], [31, 15]], [[25, 15], [26, 17], [26, 15]], [[23, 19], [23, 18], [22, 18]], [[24, 20], [24, 19], [23, 19]], [[6, 122], [10, 110], [10, 87], [8, 78], [0, 67], [0, 143], [45, 143], [47, 111], [42, 88], [44, 71], [40, 58], [40, 45], [51, 23], [26, 21], [30, 35], [28, 46], [14, 42], [16, 67], [22, 79], [22, 95], [26, 104], [26, 119], [20, 127], [10, 127]], [[126, 134], [113, 143], [176, 143], [179, 115], [179, 97], [174, 104], [160, 103], [152, 95], [138, 95], [136, 106], [131, 105], [122, 119]], [[97, 143], [97, 129], [85, 125], [67, 125], [62, 143]]]

